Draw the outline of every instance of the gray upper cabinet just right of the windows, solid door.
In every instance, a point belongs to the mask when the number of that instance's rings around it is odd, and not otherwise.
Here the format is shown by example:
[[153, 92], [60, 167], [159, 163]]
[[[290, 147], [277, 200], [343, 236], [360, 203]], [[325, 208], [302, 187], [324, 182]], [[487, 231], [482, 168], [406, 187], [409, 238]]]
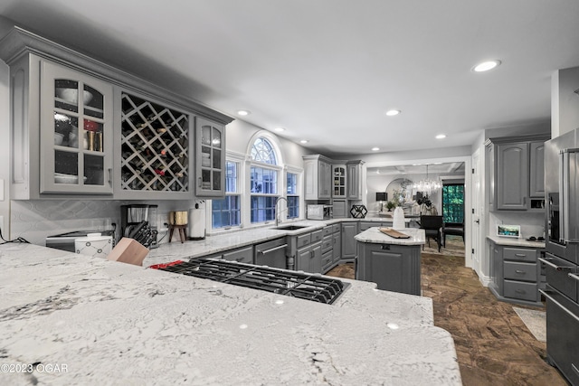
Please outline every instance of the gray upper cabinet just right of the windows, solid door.
[[323, 155], [304, 155], [306, 200], [329, 200], [332, 195], [332, 164]]

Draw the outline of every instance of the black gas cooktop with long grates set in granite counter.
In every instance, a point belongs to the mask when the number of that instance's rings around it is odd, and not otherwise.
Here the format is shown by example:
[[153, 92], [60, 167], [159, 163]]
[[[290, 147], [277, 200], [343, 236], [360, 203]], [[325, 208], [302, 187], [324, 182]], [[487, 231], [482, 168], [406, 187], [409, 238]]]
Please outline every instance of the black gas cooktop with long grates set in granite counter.
[[335, 278], [224, 259], [191, 259], [151, 268], [196, 278], [207, 278], [234, 286], [261, 289], [274, 294], [299, 297], [328, 305], [334, 303], [349, 287], [349, 284]]

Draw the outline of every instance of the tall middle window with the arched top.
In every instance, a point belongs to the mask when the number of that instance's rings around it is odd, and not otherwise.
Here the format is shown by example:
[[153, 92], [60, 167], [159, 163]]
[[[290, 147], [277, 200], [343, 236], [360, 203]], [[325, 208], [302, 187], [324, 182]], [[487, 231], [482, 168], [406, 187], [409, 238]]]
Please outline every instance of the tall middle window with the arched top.
[[275, 219], [275, 202], [278, 194], [277, 156], [270, 141], [263, 137], [255, 140], [252, 146], [251, 167], [251, 221], [252, 223]]

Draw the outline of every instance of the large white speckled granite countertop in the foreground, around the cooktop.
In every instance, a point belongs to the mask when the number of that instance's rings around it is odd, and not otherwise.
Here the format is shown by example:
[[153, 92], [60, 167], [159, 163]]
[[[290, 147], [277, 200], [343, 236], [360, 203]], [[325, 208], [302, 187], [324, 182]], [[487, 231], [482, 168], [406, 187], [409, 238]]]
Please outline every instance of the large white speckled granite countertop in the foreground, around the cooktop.
[[432, 300], [372, 283], [328, 306], [14, 243], [0, 268], [2, 384], [461, 384]]

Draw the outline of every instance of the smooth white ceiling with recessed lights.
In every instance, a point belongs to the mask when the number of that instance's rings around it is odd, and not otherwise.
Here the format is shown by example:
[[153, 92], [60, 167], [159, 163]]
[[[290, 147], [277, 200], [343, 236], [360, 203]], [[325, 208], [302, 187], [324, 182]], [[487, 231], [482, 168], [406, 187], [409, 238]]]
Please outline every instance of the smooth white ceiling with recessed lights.
[[[553, 71], [579, 66], [574, 0], [2, 0], [0, 14], [330, 156], [548, 125]], [[502, 65], [470, 71], [488, 59]]]

